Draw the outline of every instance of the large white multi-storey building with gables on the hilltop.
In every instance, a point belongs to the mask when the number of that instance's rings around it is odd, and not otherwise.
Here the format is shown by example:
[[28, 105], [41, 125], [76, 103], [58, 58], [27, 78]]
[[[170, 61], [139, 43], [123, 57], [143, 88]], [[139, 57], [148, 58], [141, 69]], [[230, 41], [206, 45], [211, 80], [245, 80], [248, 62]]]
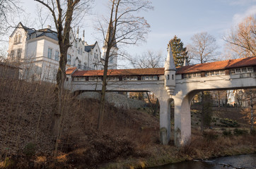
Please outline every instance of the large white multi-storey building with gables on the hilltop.
[[[101, 57], [98, 42], [88, 45], [84, 32], [81, 39], [78, 30], [76, 36], [71, 30], [69, 38], [71, 47], [68, 50], [66, 68], [103, 69], [104, 59]], [[50, 26], [35, 30], [18, 23], [9, 37], [8, 61], [21, 67], [21, 79], [54, 82], [59, 68], [59, 55], [57, 32], [51, 30]], [[111, 68], [117, 68], [117, 58], [111, 62]]]

